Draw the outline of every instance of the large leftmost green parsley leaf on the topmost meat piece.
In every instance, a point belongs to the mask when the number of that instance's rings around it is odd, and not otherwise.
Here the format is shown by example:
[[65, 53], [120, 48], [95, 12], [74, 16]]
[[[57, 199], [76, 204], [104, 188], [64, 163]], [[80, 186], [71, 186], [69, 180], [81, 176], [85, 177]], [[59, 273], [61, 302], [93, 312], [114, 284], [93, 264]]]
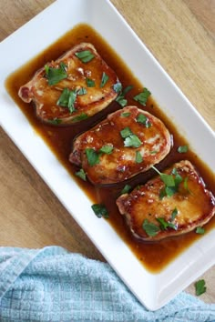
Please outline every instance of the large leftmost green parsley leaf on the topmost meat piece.
[[59, 83], [62, 79], [67, 78], [67, 71], [66, 71], [67, 65], [65, 63], [61, 62], [59, 67], [50, 67], [49, 65], [45, 65], [45, 71], [46, 71], [46, 78], [48, 85], [56, 85]]

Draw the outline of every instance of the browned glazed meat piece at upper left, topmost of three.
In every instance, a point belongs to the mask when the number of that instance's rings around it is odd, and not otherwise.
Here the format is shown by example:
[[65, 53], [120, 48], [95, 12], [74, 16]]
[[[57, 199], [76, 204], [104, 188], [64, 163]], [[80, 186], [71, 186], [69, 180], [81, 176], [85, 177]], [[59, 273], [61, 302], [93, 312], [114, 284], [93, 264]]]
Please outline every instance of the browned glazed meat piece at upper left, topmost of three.
[[106, 108], [118, 96], [117, 83], [95, 47], [82, 43], [38, 70], [18, 95], [35, 103], [36, 116], [44, 122], [70, 124]]

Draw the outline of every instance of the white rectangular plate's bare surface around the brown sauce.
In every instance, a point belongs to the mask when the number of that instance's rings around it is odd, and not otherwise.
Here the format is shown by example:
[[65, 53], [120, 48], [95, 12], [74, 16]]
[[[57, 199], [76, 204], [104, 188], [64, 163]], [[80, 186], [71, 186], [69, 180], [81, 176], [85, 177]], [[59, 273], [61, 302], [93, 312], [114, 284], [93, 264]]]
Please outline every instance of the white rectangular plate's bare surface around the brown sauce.
[[[57, 24], [53, 24], [54, 21]], [[57, 161], [42, 138], [36, 135], [26, 116], [15, 106], [5, 90], [7, 75], [78, 23], [93, 26], [118, 52], [134, 75], [153, 93], [164, 112], [174, 119], [176, 126], [179, 126], [190, 145], [210, 168], [214, 166], [215, 160], [215, 149], [210, 148], [214, 146], [215, 137], [188, 99], [107, 0], [58, 0], [0, 44], [0, 61], [4, 62], [0, 74], [0, 119], [5, 132], [139, 301], [148, 309], [156, 310], [215, 263], [215, 231], [202, 236], [159, 274], [149, 273], [107, 221], [97, 220], [91, 210], [90, 200], [71, 176], [67, 175], [67, 170]], [[48, 25], [52, 25], [51, 32]], [[144, 70], [140, 65], [144, 65]], [[181, 118], [183, 124], [180, 122]], [[207, 145], [201, 144], [202, 137]]]

